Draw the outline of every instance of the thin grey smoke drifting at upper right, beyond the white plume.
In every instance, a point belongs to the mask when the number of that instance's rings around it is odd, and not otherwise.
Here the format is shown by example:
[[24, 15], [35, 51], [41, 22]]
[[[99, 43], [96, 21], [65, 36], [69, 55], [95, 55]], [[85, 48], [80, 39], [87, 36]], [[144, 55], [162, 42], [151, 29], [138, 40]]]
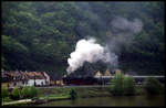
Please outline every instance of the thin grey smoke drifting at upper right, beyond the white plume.
[[143, 30], [143, 22], [139, 19], [127, 20], [122, 17], [115, 17], [110, 26], [106, 43], [112, 52], [118, 53], [122, 46], [128, 47], [133, 44], [135, 34]]

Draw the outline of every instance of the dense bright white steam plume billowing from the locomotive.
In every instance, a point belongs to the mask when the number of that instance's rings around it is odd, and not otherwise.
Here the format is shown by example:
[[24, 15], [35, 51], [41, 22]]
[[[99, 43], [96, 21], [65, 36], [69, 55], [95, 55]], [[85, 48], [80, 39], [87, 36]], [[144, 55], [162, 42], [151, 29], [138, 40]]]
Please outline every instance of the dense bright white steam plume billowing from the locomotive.
[[97, 61], [103, 61], [105, 63], [114, 61], [111, 56], [115, 54], [110, 54], [108, 48], [96, 43], [95, 39], [90, 40], [80, 40], [76, 43], [75, 51], [70, 54], [68, 58], [69, 67], [66, 68], [68, 74], [76, 71], [79, 67], [82, 67], [84, 62], [95, 63]]

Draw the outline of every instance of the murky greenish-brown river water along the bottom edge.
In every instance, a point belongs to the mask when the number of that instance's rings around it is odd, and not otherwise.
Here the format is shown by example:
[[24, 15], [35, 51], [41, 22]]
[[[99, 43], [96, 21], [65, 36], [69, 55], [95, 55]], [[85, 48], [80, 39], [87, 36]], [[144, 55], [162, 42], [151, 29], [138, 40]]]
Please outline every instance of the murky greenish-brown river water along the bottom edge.
[[165, 97], [160, 96], [120, 96], [77, 98], [75, 100], [56, 100], [39, 106], [165, 106]]

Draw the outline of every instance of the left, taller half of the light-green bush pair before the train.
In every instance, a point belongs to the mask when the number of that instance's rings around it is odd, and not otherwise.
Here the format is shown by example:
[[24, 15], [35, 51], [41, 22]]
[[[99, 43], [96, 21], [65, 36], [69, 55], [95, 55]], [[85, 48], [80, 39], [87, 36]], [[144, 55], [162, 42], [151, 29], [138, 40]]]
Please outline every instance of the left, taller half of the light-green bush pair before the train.
[[124, 79], [124, 74], [116, 73], [115, 77], [111, 80], [112, 82], [111, 93], [113, 95], [123, 95], [124, 93], [123, 79]]

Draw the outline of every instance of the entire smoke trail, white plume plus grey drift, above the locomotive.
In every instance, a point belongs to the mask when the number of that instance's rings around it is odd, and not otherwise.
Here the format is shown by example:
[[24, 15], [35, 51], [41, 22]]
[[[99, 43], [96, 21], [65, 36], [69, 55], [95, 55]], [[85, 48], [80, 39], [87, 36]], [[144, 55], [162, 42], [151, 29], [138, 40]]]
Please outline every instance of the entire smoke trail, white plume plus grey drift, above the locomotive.
[[121, 51], [121, 46], [127, 47], [131, 45], [133, 35], [142, 31], [143, 23], [138, 19], [129, 21], [125, 18], [116, 17], [111, 21], [110, 26], [111, 30], [106, 36], [105, 46], [96, 43], [95, 39], [77, 41], [75, 51], [68, 58], [68, 74], [82, 67], [85, 62], [95, 63], [103, 61], [104, 63], [108, 63], [110, 66], [117, 68], [117, 52]]

